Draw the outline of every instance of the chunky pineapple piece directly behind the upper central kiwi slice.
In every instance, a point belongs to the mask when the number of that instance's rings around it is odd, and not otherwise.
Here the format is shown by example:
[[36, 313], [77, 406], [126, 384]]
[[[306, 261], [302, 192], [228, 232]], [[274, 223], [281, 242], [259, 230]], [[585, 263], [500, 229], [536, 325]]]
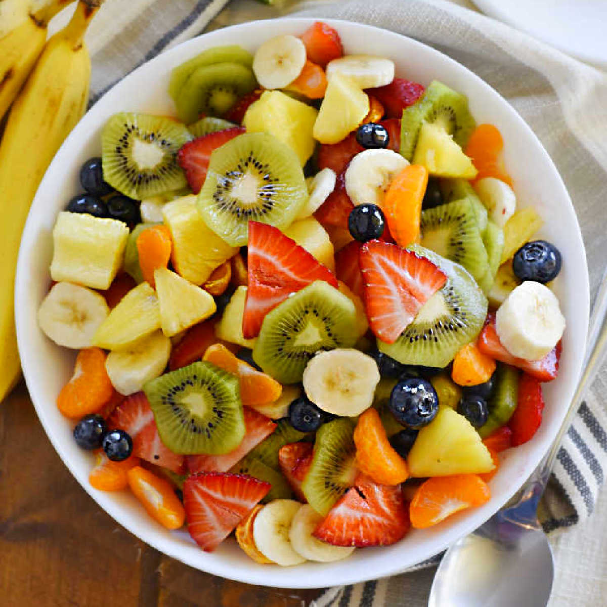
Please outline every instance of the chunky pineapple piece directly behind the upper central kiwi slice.
[[314, 107], [279, 90], [266, 90], [246, 110], [243, 126], [248, 133], [270, 133], [293, 149], [302, 166], [314, 152], [312, 129], [318, 112]]

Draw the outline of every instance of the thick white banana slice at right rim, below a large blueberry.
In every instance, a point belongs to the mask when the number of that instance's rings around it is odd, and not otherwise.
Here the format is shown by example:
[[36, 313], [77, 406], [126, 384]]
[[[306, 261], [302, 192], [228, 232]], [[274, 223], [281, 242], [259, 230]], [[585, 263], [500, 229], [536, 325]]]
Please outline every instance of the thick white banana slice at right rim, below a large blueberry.
[[527, 280], [498, 308], [495, 330], [510, 354], [539, 361], [563, 336], [565, 317], [557, 297], [546, 285]]

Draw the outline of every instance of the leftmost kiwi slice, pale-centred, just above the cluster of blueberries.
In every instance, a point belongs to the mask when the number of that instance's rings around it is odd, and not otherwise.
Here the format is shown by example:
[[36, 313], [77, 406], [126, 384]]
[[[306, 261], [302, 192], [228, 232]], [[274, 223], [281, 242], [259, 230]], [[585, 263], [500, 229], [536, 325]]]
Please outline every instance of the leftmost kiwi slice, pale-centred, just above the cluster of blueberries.
[[148, 114], [114, 114], [101, 133], [103, 178], [142, 200], [188, 185], [177, 152], [192, 135], [183, 124]]

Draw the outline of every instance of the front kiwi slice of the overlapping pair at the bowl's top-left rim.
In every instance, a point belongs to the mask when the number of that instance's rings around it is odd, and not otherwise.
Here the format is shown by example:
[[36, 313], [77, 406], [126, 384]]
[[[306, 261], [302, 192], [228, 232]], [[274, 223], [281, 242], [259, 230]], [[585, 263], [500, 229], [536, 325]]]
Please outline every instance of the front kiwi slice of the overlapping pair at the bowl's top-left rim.
[[186, 124], [197, 121], [200, 114], [221, 117], [256, 86], [253, 70], [240, 63], [197, 67], [177, 95], [177, 115]]

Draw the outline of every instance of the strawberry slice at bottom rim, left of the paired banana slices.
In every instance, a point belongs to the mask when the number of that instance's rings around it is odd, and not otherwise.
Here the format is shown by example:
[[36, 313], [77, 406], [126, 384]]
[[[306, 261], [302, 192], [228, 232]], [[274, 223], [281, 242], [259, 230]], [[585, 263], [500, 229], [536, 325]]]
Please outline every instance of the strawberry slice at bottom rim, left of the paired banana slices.
[[204, 551], [214, 551], [271, 487], [243, 474], [200, 472], [188, 476], [183, 483], [183, 507], [190, 535]]

